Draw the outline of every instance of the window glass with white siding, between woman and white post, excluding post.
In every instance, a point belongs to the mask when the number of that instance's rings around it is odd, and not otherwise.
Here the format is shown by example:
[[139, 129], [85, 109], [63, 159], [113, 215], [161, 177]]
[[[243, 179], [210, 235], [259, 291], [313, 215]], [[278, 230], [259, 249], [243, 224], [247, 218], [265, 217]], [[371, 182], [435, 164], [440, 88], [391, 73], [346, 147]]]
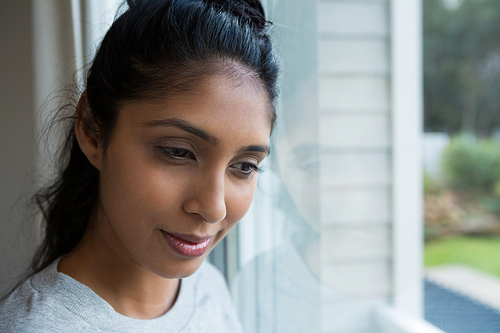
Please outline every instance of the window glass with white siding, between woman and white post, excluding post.
[[238, 225], [230, 285], [243, 327], [394, 330], [379, 315], [392, 293], [389, 4], [266, 4], [282, 89], [273, 152]]

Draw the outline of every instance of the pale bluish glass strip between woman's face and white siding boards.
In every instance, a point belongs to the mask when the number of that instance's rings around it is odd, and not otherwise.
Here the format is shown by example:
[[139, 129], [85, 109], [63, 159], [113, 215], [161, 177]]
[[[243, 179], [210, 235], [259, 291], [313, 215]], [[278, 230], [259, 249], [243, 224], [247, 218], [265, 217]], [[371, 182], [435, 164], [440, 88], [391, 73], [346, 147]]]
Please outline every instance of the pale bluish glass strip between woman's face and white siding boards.
[[233, 290], [245, 332], [319, 332], [312, 271], [319, 249], [311, 246], [319, 224], [316, 8], [294, 0], [268, 2], [267, 10], [284, 67], [279, 122], [253, 207], [240, 222]]

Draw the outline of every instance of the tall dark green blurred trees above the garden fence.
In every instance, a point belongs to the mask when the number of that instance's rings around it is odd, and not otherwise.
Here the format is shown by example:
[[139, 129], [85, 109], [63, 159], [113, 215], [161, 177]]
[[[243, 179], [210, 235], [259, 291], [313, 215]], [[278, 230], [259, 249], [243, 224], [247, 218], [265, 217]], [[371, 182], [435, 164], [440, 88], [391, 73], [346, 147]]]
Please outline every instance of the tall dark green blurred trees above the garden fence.
[[488, 136], [500, 127], [500, 1], [424, 0], [424, 129]]

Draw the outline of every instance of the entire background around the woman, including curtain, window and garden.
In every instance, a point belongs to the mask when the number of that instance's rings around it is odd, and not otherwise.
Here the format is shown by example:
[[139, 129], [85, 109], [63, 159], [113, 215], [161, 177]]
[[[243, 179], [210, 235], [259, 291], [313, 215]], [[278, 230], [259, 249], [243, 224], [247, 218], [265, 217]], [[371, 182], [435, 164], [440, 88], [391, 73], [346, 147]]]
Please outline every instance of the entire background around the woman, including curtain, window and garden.
[[[499, 332], [500, 2], [262, 2], [273, 153], [210, 255], [245, 332]], [[46, 121], [120, 3], [0, 1], [0, 292], [39, 240]]]

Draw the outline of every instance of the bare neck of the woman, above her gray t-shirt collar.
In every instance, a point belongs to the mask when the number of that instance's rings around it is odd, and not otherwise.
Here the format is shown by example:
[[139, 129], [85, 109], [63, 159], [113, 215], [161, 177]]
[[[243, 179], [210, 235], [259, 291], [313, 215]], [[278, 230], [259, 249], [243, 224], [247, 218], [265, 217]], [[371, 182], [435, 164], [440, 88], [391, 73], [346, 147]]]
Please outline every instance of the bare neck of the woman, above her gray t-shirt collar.
[[175, 303], [180, 280], [160, 277], [141, 266], [123, 246], [110, 241], [113, 237], [102, 230], [105, 226], [89, 228], [78, 246], [61, 259], [58, 271], [86, 285], [127, 317], [152, 319], [166, 313]]

